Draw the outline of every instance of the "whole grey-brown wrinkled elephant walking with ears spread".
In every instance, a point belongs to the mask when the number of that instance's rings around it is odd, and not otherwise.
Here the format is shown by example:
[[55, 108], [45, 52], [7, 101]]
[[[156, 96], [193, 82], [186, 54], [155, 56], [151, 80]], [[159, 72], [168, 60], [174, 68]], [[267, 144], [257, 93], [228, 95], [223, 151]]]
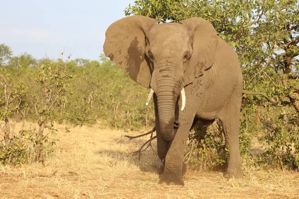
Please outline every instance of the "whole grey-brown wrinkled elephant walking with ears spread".
[[[242, 73], [237, 54], [202, 18], [157, 24], [128, 16], [109, 26], [104, 53], [130, 76], [154, 91], [159, 183], [184, 185], [184, 148], [190, 129], [219, 118], [229, 149], [227, 177], [243, 178], [239, 151]], [[186, 106], [180, 110], [180, 91]], [[146, 99], [146, 97], [145, 97]], [[174, 127], [178, 121], [179, 127]]]

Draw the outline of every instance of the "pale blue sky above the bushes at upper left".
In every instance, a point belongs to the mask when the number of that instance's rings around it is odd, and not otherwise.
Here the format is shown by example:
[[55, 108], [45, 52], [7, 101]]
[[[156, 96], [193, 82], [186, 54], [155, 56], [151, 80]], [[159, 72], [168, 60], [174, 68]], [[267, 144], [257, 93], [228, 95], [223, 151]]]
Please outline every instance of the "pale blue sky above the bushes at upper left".
[[99, 59], [105, 31], [134, 0], [0, 0], [0, 44], [13, 54]]

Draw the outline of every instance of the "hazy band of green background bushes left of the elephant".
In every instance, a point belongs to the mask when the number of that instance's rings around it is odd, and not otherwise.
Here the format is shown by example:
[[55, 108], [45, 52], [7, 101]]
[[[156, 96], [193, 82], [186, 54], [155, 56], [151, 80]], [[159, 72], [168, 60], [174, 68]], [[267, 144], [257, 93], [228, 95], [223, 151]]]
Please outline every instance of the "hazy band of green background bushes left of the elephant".
[[[100, 56], [100, 60], [75, 59], [66, 63], [62, 60], [37, 60], [22, 53], [10, 56], [3, 69], [12, 80], [29, 87], [24, 100], [29, 106], [27, 119], [32, 121], [44, 117], [42, 113], [47, 109], [42, 107], [49, 108], [50, 101], [55, 99], [53, 91], [55, 95], [62, 91], [61, 88], [54, 89], [54, 86], [62, 86], [59, 84], [63, 82], [64, 97], [58, 100], [59, 106], [51, 106], [51, 120], [75, 125], [98, 122], [111, 128], [131, 130], [154, 122], [153, 106], [145, 105], [148, 91], [135, 84], [104, 55]], [[62, 76], [64, 70], [72, 76], [71, 79]], [[54, 82], [59, 79], [62, 82], [55, 85]], [[40, 107], [40, 110], [37, 108], [36, 111], [34, 106]], [[42, 120], [48, 121], [47, 118]]]

